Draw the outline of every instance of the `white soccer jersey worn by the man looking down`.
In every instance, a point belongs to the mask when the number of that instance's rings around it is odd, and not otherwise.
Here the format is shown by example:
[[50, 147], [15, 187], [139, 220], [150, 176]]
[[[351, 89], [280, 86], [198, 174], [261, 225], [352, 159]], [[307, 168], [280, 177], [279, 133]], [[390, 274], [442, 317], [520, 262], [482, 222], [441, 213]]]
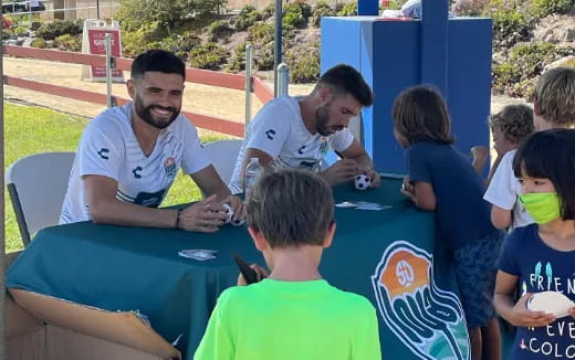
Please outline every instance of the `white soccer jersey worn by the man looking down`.
[[236, 160], [229, 184], [232, 193], [242, 192], [241, 170], [248, 148], [266, 152], [279, 168], [317, 171], [330, 149], [342, 152], [352, 145], [354, 136], [347, 128], [330, 136], [311, 134], [303, 123], [300, 99], [292, 96], [274, 98], [255, 115]]

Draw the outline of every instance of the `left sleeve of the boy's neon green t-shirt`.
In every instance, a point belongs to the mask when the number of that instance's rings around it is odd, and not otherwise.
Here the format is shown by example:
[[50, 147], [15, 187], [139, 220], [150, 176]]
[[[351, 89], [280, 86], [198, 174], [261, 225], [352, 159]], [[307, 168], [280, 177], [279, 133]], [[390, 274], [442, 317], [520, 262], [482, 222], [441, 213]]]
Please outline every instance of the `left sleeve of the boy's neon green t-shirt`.
[[208, 328], [194, 354], [194, 360], [232, 360], [234, 358], [232, 336], [224, 317], [230, 315], [226, 314], [229, 310], [227, 304], [227, 294], [223, 292], [211, 313]]

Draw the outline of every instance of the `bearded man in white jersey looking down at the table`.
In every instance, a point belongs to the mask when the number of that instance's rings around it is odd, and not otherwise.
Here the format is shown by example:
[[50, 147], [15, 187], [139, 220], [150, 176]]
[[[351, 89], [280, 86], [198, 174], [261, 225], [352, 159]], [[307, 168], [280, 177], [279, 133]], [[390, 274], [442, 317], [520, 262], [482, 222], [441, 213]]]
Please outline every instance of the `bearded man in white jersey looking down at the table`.
[[[274, 98], [248, 127], [230, 181], [233, 193], [243, 191], [243, 173], [251, 158], [264, 167], [303, 168], [318, 172], [331, 186], [354, 180], [359, 173], [379, 187], [372, 159], [347, 126], [362, 107], [370, 106], [373, 94], [362, 74], [345, 64], [325, 72], [305, 97]], [[343, 159], [321, 170], [330, 149]]]

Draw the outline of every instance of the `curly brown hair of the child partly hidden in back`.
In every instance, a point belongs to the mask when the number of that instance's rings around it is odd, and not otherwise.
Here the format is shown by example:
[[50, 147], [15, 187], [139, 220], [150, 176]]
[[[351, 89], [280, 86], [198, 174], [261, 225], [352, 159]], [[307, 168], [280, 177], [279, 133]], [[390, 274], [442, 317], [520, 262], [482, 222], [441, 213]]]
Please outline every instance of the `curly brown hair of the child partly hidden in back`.
[[505, 140], [520, 144], [523, 138], [535, 131], [533, 109], [527, 105], [508, 105], [491, 116], [489, 125], [501, 131]]

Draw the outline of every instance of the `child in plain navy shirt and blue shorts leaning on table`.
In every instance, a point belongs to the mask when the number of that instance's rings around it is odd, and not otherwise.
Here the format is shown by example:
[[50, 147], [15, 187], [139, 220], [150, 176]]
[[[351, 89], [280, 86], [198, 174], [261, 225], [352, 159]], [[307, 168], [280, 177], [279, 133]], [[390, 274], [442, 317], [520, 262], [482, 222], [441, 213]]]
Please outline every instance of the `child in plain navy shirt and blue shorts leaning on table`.
[[439, 237], [456, 262], [472, 359], [483, 352], [485, 359], [499, 360], [501, 340], [491, 300], [503, 233], [491, 224], [483, 182], [451, 146], [449, 115], [437, 91], [408, 88], [396, 98], [393, 118], [396, 139], [406, 148], [402, 192], [418, 208], [436, 211]]

